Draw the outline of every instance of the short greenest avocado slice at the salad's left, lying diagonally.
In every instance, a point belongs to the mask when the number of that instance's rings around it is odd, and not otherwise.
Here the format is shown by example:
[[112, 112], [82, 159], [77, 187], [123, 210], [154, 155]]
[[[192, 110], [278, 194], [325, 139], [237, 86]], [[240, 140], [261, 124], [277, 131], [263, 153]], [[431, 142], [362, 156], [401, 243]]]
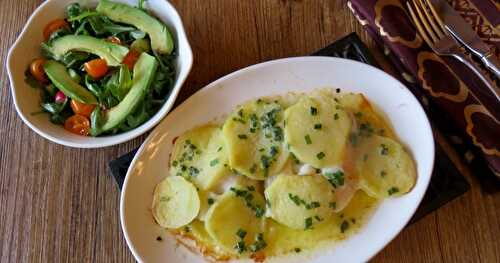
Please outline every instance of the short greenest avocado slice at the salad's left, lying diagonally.
[[63, 64], [55, 60], [48, 60], [43, 65], [43, 69], [52, 83], [66, 96], [85, 104], [97, 104], [94, 95], [75, 82]]

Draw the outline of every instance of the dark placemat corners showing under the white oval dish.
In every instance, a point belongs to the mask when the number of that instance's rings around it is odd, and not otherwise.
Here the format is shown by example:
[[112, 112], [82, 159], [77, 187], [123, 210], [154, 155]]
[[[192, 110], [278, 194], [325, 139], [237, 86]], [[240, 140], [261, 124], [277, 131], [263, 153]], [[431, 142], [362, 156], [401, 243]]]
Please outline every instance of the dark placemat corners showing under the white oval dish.
[[[368, 48], [355, 33], [335, 41], [312, 55], [348, 58], [378, 67]], [[111, 174], [113, 174], [120, 189], [136, 152], [137, 149], [109, 163]], [[464, 194], [469, 188], [470, 185], [467, 180], [451, 162], [443, 149], [436, 144], [436, 158], [431, 182], [422, 203], [411, 219], [411, 223]]]

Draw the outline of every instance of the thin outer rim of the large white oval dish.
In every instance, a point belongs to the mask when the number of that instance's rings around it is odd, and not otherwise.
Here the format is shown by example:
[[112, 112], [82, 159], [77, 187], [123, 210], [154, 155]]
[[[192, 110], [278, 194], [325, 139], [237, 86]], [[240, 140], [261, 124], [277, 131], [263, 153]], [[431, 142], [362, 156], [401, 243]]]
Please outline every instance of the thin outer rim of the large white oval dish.
[[[424, 182], [423, 182], [423, 184], [424, 184], [423, 185], [423, 189], [424, 190], [422, 191], [422, 194], [416, 199], [416, 202], [415, 202], [416, 205], [415, 205], [414, 209], [411, 211], [411, 213], [409, 213], [407, 215], [407, 218], [404, 220], [405, 221], [404, 224], [402, 224], [402, 226], [399, 229], [397, 229], [397, 231], [395, 231], [393, 235], [387, 235], [386, 239], [383, 242], [381, 242], [382, 245], [377, 245], [377, 246], [373, 247], [372, 251], [369, 253], [370, 256], [368, 258], [366, 258], [366, 260], [368, 261], [368, 260], [372, 259], [374, 256], [376, 256], [377, 253], [379, 253], [384, 247], [386, 247], [392, 240], [394, 240], [399, 235], [399, 233], [404, 229], [404, 227], [408, 224], [408, 222], [411, 220], [412, 216], [415, 214], [417, 208], [419, 207], [420, 203], [422, 202], [422, 200], [424, 198], [425, 192], [427, 191], [427, 189], [429, 187], [430, 179], [432, 177], [432, 172], [434, 170], [434, 163], [435, 163], [435, 141], [434, 141], [434, 136], [433, 136], [432, 129], [431, 129], [431, 124], [429, 122], [427, 114], [425, 113], [425, 111], [424, 111], [422, 105], [420, 104], [420, 102], [418, 102], [418, 100], [415, 97], [415, 95], [413, 95], [413, 93], [411, 93], [408, 90], [408, 88], [406, 88], [406, 86], [403, 85], [398, 79], [394, 78], [390, 74], [386, 73], [385, 71], [383, 71], [383, 70], [381, 70], [381, 69], [379, 69], [377, 67], [374, 67], [372, 65], [368, 65], [368, 64], [365, 64], [365, 63], [362, 63], [362, 62], [359, 62], [359, 61], [351, 60], [351, 59], [344, 59], [344, 58], [338, 58], [338, 57], [326, 57], [326, 56], [297, 56], [297, 57], [288, 57], [288, 58], [275, 59], [275, 60], [270, 60], [270, 61], [266, 61], [266, 62], [254, 64], [254, 65], [251, 65], [251, 66], [248, 66], [248, 67], [236, 70], [236, 71], [234, 71], [232, 73], [229, 73], [229, 74], [227, 74], [227, 75], [225, 75], [225, 76], [223, 76], [223, 77], [221, 77], [221, 78], [219, 78], [219, 79], [217, 79], [217, 80], [209, 83], [205, 87], [201, 88], [200, 90], [198, 90], [197, 92], [195, 92], [194, 94], [192, 94], [188, 99], [186, 99], [185, 101], [183, 101], [182, 104], [187, 103], [192, 97], [194, 97], [198, 93], [204, 92], [204, 91], [206, 91], [208, 89], [216, 88], [221, 82], [224, 82], [225, 80], [233, 78], [233, 77], [235, 77], [235, 76], [237, 76], [239, 74], [244, 74], [244, 72], [246, 72], [246, 71], [251, 71], [251, 70], [254, 70], [256, 68], [267, 66], [267, 65], [271, 65], [271, 64], [275, 64], [275, 63], [286, 63], [288, 61], [310, 60], [310, 59], [319, 59], [319, 60], [321, 60], [321, 59], [333, 59], [333, 60], [341, 60], [341, 61], [347, 61], [348, 63], [359, 64], [359, 65], [361, 65], [361, 67], [368, 67], [368, 68], [371, 68], [372, 70], [374, 69], [375, 71], [378, 71], [379, 73], [382, 73], [382, 74], [386, 75], [387, 77], [389, 77], [390, 79], [392, 79], [393, 81], [395, 81], [396, 83], [398, 83], [399, 85], [401, 85], [401, 87], [404, 87], [404, 91], [403, 92], [408, 93], [411, 96], [411, 98], [413, 100], [415, 100], [416, 105], [417, 105], [416, 110], [417, 111], [421, 111], [424, 114], [424, 116], [425, 116], [424, 123], [425, 123], [425, 126], [426, 126], [425, 130], [427, 131], [427, 134], [424, 135], [423, 137], [429, 137], [432, 143], [429, 145], [429, 149], [428, 149], [431, 152], [430, 162], [429, 162], [430, 169], [427, 169], [429, 171], [429, 174], [425, 174], [425, 176], [423, 178], [423, 180], [424, 180]], [[179, 105], [176, 109], [178, 109], [181, 105]], [[173, 112], [175, 112], [175, 110]], [[125, 202], [124, 202], [124, 200], [125, 200], [126, 189], [128, 187], [128, 181], [129, 181], [129, 178], [130, 178], [129, 175], [131, 174], [132, 170], [134, 169], [135, 164], [138, 161], [139, 157], [144, 152], [145, 147], [155, 137], [155, 133], [156, 133], [158, 127], [156, 127], [148, 135], [148, 137], [146, 138], [146, 140], [142, 143], [142, 145], [137, 150], [134, 158], [132, 159], [132, 161], [131, 161], [131, 163], [129, 165], [129, 168], [127, 169], [127, 174], [126, 174], [125, 180], [123, 182], [122, 189], [121, 189], [121, 194], [120, 194], [120, 224], [121, 224], [121, 227], [122, 227], [122, 233], [123, 233], [123, 235], [125, 237], [125, 241], [127, 242], [127, 246], [129, 247], [130, 251], [132, 252], [132, 254], [134, 256], [134, 258], [138, 262], [142, 262], [141, 261], [141, 257], [139, 255], [139, 253], [135, 250], [135, 248], [132, 246], [129, 234], [128, 234], [127, 229], [125, 227], [125, 214], [124, 214]], [[419, 177], [418, 180], [420, 180], [420, 179], [421, 178]]]

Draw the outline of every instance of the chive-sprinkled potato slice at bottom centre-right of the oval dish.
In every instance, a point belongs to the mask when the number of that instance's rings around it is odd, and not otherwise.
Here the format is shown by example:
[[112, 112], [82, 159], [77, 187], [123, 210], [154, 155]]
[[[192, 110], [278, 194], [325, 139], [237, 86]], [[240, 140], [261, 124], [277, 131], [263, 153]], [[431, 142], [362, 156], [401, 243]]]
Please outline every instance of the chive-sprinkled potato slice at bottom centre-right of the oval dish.
[[333, 215], [333, 191], [321, 175], [280, 174], [265, 195], [274, 220], [294, 229], [308, 229]]

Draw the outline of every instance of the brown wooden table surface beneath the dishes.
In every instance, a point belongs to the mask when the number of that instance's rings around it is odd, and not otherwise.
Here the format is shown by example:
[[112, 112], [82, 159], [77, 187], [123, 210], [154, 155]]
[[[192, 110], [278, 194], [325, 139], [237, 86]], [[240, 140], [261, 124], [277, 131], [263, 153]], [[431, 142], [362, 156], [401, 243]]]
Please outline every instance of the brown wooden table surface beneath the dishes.
[[[71, 149], [42, 139], [15, 112], [7, 51], [41, 2], [0, 1], [0, 262], [133, 262], [107, 163], [145, 137]], [[194, 52], [177, 103], [232, 71], [309, 54], [352, 31], [386, 65], [342, 0], [172, 2]], [[500, 262], [500, 195], [487, 195], [468, 179], [471, 191], [407, 227], [373, 261]]]

